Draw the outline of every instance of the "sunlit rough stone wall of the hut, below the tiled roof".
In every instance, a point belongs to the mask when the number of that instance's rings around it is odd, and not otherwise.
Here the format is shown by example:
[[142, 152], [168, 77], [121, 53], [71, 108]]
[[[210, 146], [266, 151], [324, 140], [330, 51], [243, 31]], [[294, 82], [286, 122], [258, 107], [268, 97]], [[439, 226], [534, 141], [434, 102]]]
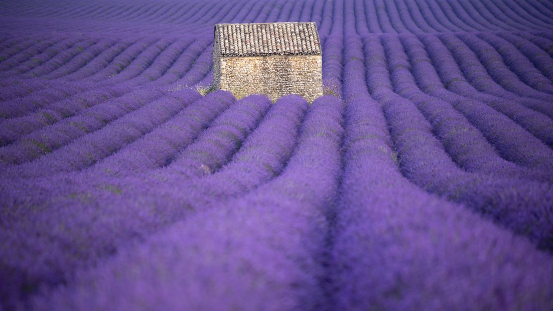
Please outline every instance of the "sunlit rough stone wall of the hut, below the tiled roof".
[[322, 95], [321, 55], [213, 55], [213, 84], [238, 99], [264, 94], [276, 101], [280, 96], [298, 94], [312, 102]]

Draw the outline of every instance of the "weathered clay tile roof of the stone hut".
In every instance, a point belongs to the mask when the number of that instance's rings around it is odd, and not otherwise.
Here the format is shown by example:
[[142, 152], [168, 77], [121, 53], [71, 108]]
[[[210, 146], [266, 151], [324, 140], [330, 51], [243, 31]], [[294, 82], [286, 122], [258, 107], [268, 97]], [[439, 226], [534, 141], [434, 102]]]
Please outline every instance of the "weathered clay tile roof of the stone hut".
[[215, 35], [221, 56], [321, 54], [314, 22], [216, 24]]

